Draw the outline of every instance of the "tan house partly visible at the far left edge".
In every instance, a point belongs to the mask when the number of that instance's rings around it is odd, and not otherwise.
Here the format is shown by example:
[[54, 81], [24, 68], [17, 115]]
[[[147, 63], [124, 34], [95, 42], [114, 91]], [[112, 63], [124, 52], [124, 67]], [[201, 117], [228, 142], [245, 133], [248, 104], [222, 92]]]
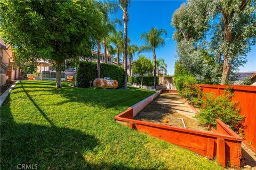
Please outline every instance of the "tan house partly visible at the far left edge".
[[7, 79], [16, 80], [21, 75], [20, 67], [14, 67], [15, 54], [12, 52], [12, 46], [6, 45], [0, 38], [1, 48], [1, 86]]

